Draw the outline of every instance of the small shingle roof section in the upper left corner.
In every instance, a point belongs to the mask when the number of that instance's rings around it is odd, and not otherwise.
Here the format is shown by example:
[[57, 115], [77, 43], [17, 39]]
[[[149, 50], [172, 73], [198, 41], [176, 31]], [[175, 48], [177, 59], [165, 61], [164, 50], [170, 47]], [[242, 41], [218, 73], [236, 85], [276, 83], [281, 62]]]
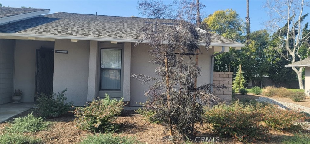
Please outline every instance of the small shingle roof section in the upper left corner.
[[0, 18], [9, 17], [13, 15], [26, 14], [36, 11], [49, 9], [31, 9], [31, 8], [17, 8], [17, 7], [0, 7]]

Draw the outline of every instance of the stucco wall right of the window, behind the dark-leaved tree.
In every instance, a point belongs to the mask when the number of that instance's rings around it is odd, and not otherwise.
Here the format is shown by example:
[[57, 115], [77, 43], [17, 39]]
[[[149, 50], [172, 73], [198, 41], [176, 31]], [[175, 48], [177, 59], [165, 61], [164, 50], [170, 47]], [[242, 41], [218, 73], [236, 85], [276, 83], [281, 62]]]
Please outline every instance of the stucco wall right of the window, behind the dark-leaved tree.
[[[149, 63], [152, 59], [149, 55], [150, 48], [144, 44], [140, 44], [131, 49], [131, 73], [144, 74], [147, 76], [156, 76], [154, 73], [155, 68], [158, 65]], [[214, 49], [210, 48], [206, 51], [201, 47], [201, 52], [198, 57], [198, 65], [201, 67], [201, 76], [198, 78], [197, 85], [209, 84], [210, 83], [210, 70], [211, 70], [211, 55], [214, 53]], [[148, 86], [152, 83], [142, 85], [139, 80], [131, 78], [130, 88], [130, 105], [141, 106], [139, 102], [145, 102], [147, 97], [144, 96], [144, 92], [148, 90]]]

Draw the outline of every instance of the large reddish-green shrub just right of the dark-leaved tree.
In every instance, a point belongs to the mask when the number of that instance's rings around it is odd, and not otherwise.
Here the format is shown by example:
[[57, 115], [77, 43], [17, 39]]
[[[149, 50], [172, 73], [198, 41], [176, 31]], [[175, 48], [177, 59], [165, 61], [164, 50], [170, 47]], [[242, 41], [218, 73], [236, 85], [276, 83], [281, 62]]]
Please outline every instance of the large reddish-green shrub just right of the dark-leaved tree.
[[253, 106], [244, 106], [239, 101], [220, 104], [206, 112], [206, 122], [213, 125], [213, 131], [243, 142], [267, 138], [268, 128], [259, 123], [262, 120], [262, 114]]

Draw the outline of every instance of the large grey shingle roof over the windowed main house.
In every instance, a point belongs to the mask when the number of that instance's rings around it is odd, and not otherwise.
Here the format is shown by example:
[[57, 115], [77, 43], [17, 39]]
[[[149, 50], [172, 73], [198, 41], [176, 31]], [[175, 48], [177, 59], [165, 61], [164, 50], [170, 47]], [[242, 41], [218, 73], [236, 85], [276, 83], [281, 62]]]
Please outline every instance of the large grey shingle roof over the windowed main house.
[[[171, 20], [164, 19], [167, 23]], [[59, 12], [2, 25], [2, 33], [23, 33], [95, 38], [139, 39], [138, 30], [145, 18], [119, 17]], [[211, 34], [211, 43], [237, 44], [228, 38]]]

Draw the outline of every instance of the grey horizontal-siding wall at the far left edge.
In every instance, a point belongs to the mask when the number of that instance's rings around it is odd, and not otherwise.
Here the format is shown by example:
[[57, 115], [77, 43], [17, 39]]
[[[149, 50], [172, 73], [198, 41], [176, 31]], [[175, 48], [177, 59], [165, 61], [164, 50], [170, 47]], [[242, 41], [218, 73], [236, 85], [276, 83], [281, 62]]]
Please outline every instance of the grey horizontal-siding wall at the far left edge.
[[15, 40], [0, 39], [0, 104], [11, 102]]

